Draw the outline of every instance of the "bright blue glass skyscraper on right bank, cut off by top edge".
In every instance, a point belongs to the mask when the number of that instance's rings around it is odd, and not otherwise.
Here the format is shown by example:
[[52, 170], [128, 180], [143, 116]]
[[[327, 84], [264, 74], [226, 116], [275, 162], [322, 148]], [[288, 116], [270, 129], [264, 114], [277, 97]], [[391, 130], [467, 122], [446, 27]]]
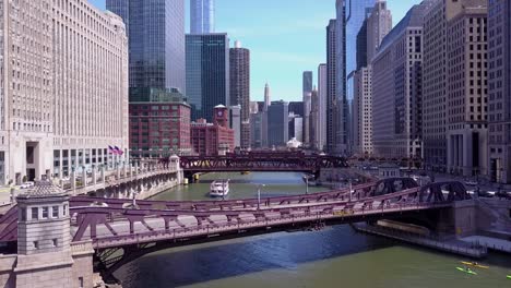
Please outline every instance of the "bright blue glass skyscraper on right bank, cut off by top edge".
[[[343, 154], [349, 154], [353, 146], [353, 129], [352, 129], [352, 113], [353, 107], [352, 101], [355, 96], [355, 84], [354, 84], [354, 73], [357, 70], [357, 35], [360, 32], [360, 28], [364, 25], [365, 20], [370, 14], [372, 8], [375, 7], [376, 0], [337, 0], [337, 2], [344, 2], [344, 13], [340, 13], [341, 4], [337, 5], [337, 27], [341, 28], [338, 23], [340, 14], [344, 14], [344, 108], [343, 108], [343, 129], [344, 131], [341, 134], [341, 140], [343, 144]], [[341, 39], [341, 36], [337, 35], [337, 39]], [[342, 47], [341, 43], [337, 43], [337, 47]], [[341, 53], [337, 51], [337, 53]], [[337, 62], [341, 63], [337, 59]], [[342, 65], [337, 65], [340, 69]], [[337, 73], [342, 73], [337, 71]], [[341, 84], [338, 84], [341, 85]], [[337, 88], [341, 92], [341, 87]]]

